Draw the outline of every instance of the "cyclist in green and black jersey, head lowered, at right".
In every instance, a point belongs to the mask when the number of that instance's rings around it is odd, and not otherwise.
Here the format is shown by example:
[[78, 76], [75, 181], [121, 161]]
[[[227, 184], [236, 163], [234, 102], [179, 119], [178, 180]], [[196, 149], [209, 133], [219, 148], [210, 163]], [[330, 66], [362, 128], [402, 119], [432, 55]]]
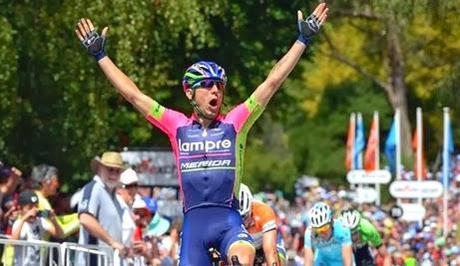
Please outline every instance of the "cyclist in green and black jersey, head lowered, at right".
[[353, 209], [342, 210], [340, 219], [351, 230], [356, 266], [376, 265], [370, 247], [375, 248], [383, 258], [384, 266], [391, 265], [391, 257], [387, 252], [386, 246], [382, 243], [380, 233], [370, 221], [362, 217], [357, 210]]

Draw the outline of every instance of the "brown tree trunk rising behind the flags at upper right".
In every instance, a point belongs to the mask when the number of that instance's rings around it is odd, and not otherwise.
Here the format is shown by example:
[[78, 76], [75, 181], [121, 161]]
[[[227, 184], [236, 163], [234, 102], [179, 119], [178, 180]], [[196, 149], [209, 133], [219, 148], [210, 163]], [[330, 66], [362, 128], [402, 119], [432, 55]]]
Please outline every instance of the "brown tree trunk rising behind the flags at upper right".
[[407, 106], [407, 87], [404, 81], [404, 58], [399, 39], [399, 29], [391, 21], [388, 22], [388, 64], [390, 69], [388, 99], [393, 108], [401, 114], [401, 151], [403, 158], [411, 158], [411, 124]]

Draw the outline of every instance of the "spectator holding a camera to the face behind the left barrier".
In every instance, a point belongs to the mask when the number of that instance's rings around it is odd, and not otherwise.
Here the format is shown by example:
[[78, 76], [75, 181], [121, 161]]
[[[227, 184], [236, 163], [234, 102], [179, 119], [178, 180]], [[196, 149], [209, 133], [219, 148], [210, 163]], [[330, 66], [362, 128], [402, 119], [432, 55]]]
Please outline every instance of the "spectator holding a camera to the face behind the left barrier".
[[[13, 240], [41, 240], [45, 233], [54, 237], [63, 238], [64, 233], [57, 223], [53, 210], [44, 214], [38, 209], [38, 197], [35, 192], [26, 190], [19, 194], [18, 203], [20, 216], [13, 224], [11, 239]], [[45, 222], [43, 216], [51, 221]], [[17, 246], [15, 247], [14, 265], [38, 265], [40, 263], [40, 247], [38, 246]]]

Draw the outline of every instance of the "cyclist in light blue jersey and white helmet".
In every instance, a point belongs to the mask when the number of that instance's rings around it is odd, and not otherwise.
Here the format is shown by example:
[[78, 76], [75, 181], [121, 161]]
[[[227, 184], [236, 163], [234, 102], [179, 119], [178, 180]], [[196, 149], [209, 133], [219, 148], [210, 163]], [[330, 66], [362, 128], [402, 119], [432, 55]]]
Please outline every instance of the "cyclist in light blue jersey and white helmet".
[[305, 231], [304, 262], [306, 266], [351, 266], [353, 249], [350, 229], [332, 218], [329, 205], [318, 202], [308, 213]]

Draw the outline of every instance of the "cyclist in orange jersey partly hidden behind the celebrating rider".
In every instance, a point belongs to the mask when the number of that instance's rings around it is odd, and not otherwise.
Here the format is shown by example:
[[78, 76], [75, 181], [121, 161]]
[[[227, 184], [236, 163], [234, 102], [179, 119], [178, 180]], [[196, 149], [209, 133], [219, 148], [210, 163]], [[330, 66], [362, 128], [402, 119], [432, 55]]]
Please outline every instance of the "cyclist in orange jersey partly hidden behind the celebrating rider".
[[251, 190], [240, 184], [240, 214], [256, 249], [254, 265], [286, 265], [286, 249], [277, 230], [276, 215], [267, 204], [255, 200]]

